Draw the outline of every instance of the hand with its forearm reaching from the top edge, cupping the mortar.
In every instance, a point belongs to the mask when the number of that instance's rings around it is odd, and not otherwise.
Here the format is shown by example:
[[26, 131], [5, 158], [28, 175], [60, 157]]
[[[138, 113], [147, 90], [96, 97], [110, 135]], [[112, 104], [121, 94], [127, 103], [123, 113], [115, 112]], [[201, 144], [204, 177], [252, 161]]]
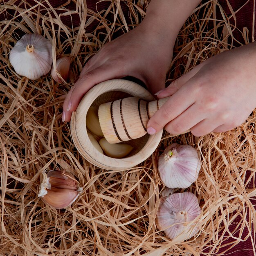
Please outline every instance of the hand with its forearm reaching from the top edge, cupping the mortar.
[[107, 43], [83, 68], [67, 94], [63, 121], [70, 121], [82, 97], [94, 85], [133, 76], [153, 94], [165, 87], [177, 34], [200, 0], [151, 0], [144, 20], [132, 31]]

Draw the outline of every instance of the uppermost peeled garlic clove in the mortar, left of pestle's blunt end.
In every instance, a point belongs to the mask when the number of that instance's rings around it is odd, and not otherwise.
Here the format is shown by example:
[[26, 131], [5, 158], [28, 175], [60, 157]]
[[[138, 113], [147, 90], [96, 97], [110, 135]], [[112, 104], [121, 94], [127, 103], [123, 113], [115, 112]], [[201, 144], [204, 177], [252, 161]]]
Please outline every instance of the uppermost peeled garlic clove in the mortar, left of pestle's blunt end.
[[99, 124], [98, 108], [90, 106], [86, 115], [86, 127], [95, 135], [103, 137]]

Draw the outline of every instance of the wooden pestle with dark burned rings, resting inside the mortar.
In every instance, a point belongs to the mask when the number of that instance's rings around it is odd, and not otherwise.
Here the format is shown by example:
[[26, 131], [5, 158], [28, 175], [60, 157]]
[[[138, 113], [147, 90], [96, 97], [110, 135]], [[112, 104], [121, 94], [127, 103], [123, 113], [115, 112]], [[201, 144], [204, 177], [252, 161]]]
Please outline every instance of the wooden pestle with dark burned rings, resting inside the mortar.
[[110, 144], [137, 139], [147, 133], [147, 123], [169, 97], [146, 102], [128, 97], [99, 106], [99, 123]]

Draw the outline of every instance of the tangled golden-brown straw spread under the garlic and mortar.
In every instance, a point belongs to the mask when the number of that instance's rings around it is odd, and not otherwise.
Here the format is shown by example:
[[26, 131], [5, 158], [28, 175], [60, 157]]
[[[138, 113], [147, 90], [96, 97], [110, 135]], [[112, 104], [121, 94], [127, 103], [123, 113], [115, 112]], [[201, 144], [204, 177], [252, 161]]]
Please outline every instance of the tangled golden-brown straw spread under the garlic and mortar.
[[[54, 7], [47, 0], [0, 4], [0, 14], [6, 17], [0, 21], [1, 254], [209, 256], [242, 240], [254, 245], [255, 112], [225, 133], [174, 138], [165, 134], [149, 159], [127, 171], [99, 169], [79, 155], [69, 124], [61, 121], [65, 94], [92, 54], [115, 33], [139, 24], [148, 2], [103, 0], [108, 8], [96, 12], [85, 1], [69, 1], [72, 10], [65, 2]], [[213, 1], [195, 9], [177, 38], [168, 81], [232, 48], [236, 27], [230, 20], [235, 14], [231, 10], [228, 17]], [[63, 17], [78, 19], [80, 25], [67, 27]], [[88, 33], [91, 24], [95, 26]], [[57, 84], [49, 74], [30, 81], [14, 72], [9, 64], [11, 48], [23, 34], [36, 32], [52, 41], [57, 58], [71, 56], [68, 83]], [[246, 41], [247, 31], [240, 33]], [[200, 200], [201, 229], [187, 241], [170, 241], [155, 225], [163, 189], [157, 159], [172, 142], [194, 146], [202, 160], [197, 182], [186, 189]], [[52, 209], [37, 197], [43, 171], [54, 168], [64, 168], [83, 186], [67, 209]], [[252, 251], [255, 255], [253, 246]]]

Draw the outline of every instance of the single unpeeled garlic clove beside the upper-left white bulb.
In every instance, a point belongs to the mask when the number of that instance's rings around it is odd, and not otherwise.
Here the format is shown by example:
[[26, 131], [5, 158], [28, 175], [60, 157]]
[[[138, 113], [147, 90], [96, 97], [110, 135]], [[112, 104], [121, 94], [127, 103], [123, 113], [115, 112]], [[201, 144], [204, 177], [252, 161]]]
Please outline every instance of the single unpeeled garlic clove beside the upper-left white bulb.
[[[67, 77], [70, 72], [70, 61], [70, 57], [61, 57], [56, 61], [56, 68], [52, 65], [51, 75], [57, 83], [61, 83], [62, 79], [67, 81]], [[61, 76], [62, 79], [59, 76]]]

